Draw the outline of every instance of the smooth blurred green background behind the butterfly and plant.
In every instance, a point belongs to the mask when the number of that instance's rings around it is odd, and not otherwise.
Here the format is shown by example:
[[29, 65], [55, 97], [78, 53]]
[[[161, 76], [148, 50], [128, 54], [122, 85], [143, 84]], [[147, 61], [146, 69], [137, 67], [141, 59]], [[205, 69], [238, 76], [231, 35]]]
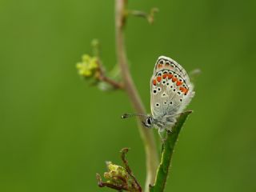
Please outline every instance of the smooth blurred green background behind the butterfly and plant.
[[[256, 2], [129, 3], [154, 6], [153, 26], [134, 17], [126, 26], [130, 69], [147, 110], [159, 55], [202, 70], [166, 191], [256, 191]], [[133, 111], [126, 94], [89, 86], [75, 69], [93, 38], [106, 69], [116, 63], [114, 1], [1, 0], [0, 23], [0, 190], [110, 191], [98, 188], [95, 173], [106, 160], [120, 164], [125, 146], [144, 186], [136, 123], [120, 118]]]

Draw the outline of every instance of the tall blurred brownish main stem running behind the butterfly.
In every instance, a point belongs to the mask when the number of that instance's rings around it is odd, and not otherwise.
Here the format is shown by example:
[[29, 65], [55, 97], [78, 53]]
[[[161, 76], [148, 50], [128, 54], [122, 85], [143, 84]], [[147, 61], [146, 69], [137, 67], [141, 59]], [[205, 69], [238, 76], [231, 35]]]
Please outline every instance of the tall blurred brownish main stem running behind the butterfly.
[[[130, 70], [127, 65], [126, 49], [124, 42], [123, 27], [126, 22], [126, 4], [127, 0], [116, 0], [115, 1], [115, 30], [116, 30], [116, 52], [118, 64], [121, 69], [122, 79], [124, 82], [124, 88], [130, 98], [130, 102], [134, 106], [134, 110], [138, 114], [146, 114], [145, 107], [142, 105], [142, 100], [138, 95], [138, 91], [134, 86], [133, 79], [130, 75]], [[155, 173], [158, 167], [158, 153], [157, 147], [154, 142], [154, 134], [150, 130], [146, 130], [142, 126], [141, 121], [138, 121], [138, 128], [142, 137], [142, 141], [145, 146], [146, 152], [146, 188], [150, 183], [154, 182]]]

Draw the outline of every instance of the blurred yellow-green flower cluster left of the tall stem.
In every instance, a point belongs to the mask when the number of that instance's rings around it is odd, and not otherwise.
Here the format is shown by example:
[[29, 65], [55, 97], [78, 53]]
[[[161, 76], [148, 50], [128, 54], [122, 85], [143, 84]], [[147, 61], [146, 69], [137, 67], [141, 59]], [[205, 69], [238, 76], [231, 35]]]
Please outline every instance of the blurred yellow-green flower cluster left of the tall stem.
[[78, 74], [85, 78], [93, 77], [98, 67], [97, 58], [89, 54], [82, 55], [82, 62], [77, 63]]

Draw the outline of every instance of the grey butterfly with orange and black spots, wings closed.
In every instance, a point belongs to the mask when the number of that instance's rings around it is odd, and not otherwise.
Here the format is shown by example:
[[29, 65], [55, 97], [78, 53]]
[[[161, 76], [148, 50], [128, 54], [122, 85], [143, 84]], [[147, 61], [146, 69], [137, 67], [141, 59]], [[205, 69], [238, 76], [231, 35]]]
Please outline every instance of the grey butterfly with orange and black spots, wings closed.
[[144, 126], [157, 128], [159, 132], [170, 130], [194, 97], [194, 86], [186, 70], [174, 59], [160, 56], [150, 79], [151, 115], [124, 114], [122, 118], [145, 116]]

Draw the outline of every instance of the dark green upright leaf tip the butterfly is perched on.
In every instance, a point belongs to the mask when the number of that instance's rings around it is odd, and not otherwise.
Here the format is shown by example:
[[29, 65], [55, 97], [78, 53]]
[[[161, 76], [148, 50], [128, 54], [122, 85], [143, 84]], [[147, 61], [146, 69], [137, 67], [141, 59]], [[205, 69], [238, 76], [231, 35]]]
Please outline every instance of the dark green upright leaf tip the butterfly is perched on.
[[172, 131], [167, 132], [166, 141], [163, 144], [163, 150], [161, 155], [161, 162], [158, 166], [157, 176], [154, 182], [154, 186], [150, 186], [150, 192], [162, 192], [166, 186], [166, 179], [169, 172], [170, 161], [172, 154], [174, 153], [174, 146], [178, 140], [178, 134], [182, 129], [183, 123], [186, 121], [186, 118], [192, 111], [186, 111], [182, 113], [175, 126], [172, 128]]

